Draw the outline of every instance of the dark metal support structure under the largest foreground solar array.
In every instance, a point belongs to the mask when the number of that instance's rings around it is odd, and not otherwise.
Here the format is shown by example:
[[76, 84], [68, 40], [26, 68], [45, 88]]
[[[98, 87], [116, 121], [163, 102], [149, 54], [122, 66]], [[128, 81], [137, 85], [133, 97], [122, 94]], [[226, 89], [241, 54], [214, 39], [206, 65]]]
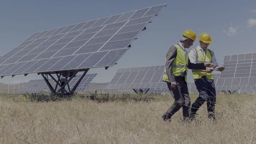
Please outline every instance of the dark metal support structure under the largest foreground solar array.
[[[40, 74], [44, 78], [44, 81], [46, 82], [46, 84], [49, 87], [52, 94], [61, 93], [63, 95], [70, 96], [70, 95], [75, 94], [76, 88], [78, 87], [78, 85], [80, 84], [80, 82], [82, 81], [82, 79], [84, 78], [86, 73], [88, 72], [88, 70], [89, 69], [77, 70], [77, 71], [60, 71], [60, 72], [55, 72], [55, 73], [40, 73]], [[74, 78], [76, 76], [76, 74], [79, 71], [84, 71], [84, 74], [82, 74], [82, 76], [80, 77], [78, 82], [76, 82], [75, 86], [72, 88], [72, 90], [70, 90], [69, 82], [70, 82], [70, 80], [72, 80], [72, 78]], [[58, 79], [54, 78], [54, 76], [52, 76], [52, 74], [56, 74]], [[48, 76], [50, 76], [52, 78], [52, 80], [54, 80], [54, 82], [56, 84], [56, 85], [54, 85], [54, 87], [49, 82], [50, 79], [48, 78]], [[62, 81], [62, 77], [64, 77], [66, 79], [66, 80], [64, 80], [64, 82]], [[65, 86], [68, 86], [68, 90], [65, 89]]]

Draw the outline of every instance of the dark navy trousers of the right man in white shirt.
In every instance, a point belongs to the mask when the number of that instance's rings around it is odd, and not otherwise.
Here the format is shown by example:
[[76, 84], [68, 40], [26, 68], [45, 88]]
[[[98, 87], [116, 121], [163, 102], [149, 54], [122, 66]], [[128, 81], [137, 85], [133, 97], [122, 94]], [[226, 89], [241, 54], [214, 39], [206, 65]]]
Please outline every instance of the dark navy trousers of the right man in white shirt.
[[216, 104], [216, 90], [214, 80], [210, 80], [206, 77], [198, 78], [195, 80], [196, 88], [199, 92], [199, 96], [191, 106], [191, 113], [196, 111], [207, 102], [207, 111], [214, 112]]

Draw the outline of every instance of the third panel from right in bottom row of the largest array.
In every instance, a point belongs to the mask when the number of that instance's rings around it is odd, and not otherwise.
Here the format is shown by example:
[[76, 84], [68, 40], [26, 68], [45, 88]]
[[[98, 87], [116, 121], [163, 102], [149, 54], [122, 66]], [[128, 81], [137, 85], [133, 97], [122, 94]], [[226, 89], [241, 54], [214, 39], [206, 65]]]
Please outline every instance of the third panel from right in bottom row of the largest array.
[[86, 60], [90, 54], [80, 54], [76, 56], [71, 62], [69, 62], [62, 70], [76, 69], [84, 60]]

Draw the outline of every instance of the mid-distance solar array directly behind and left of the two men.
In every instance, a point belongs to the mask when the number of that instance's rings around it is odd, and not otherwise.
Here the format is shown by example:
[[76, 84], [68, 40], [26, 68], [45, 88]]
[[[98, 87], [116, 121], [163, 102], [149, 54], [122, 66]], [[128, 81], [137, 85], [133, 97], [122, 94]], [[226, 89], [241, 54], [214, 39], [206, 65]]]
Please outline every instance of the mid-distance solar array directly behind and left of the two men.
[[121, 68], [105, 89], [166, 89], [162, 81], [164, 66], [147, 66], [138, 68]]

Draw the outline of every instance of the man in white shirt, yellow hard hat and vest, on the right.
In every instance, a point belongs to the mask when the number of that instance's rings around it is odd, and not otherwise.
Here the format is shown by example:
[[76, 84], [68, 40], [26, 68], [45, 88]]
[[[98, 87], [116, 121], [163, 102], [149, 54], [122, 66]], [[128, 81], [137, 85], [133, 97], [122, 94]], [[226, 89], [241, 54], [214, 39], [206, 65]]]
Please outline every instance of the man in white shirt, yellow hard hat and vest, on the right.
[[[215, 64], [213, 68], [217, 68], [219, 71], [223, 71], [224, 68], [218, 68], [218, 63], [216, 62], [216, 58], [214, 52], [208, 49], [210, 43], [212, 43], [210, 34], [202, 33], [199, 38], [199, 45], [196, 48], [193, 48], [189, 51], [188, 57], [190, 62], [194, 64], [211, 62]], [[199, 92], [199, 96], [196, 101], [191, 106], [190, 117], [192, 119], [195, 118], [196, 111], [207, 101], [207, 110], [208, 110], [208, 118], [212, 118], [215, 120], [215, 103], [216, 103], [216, 90], [214, 85], [214, 78], [212, 76], [212, 71], [210, 67], [206, 68], [206, 70], [192, 70], [194, 82], [196, 84], [196, 88]]]

